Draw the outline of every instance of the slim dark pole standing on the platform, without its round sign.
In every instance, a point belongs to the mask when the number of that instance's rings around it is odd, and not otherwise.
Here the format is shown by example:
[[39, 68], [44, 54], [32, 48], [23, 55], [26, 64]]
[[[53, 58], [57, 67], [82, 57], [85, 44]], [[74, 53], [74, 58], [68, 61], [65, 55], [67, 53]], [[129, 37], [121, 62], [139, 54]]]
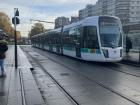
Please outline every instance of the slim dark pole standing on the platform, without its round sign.
[[[17, 8], [14, 8], [14, 15], [16, 14]], [[17, 32], [16, 32], [16, 16], [14, 16], [14, 21], [15, 21], [15, 36], [14, 36], [14, 41], [15, 41], [15, 68], [17, 69], [18, 67], [18, 58], [17, 58]]]

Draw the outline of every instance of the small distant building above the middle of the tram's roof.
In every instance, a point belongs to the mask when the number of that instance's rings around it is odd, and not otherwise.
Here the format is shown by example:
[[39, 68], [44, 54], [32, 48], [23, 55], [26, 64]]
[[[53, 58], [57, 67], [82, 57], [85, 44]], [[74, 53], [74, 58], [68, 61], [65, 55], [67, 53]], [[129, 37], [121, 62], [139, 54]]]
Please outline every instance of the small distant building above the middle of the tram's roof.
[[54, 28], [59, 28], [59, 27], [62, 27], [64, 25], [67, 25], [69, 24], [70, 21], [69, 21], [69, 18], [66, 18], [66, 17], [57, 17], [55, 19], [55, 27]]

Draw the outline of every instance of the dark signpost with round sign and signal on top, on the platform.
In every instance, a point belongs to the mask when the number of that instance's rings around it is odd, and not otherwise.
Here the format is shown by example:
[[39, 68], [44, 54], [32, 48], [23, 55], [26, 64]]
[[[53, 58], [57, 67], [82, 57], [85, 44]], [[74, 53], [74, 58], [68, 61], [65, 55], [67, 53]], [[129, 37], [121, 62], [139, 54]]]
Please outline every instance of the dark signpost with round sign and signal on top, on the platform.
[[14, 41], [15, 41], [15, 68], [18, 68], [18, 57], [17, 57], [17, 32], [16, 32], [16, 25], [19, 24], [19, 11], [18, 8], [14, 8], [14, 17], [12, 18], [12, 23], [14, 24], [15, 31], [14, 31]]

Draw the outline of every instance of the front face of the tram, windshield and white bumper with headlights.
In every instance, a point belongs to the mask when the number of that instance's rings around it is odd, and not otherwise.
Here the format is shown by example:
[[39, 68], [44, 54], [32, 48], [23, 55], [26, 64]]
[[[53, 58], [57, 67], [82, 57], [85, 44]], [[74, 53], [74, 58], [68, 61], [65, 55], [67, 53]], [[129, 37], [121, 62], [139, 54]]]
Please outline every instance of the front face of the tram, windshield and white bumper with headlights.
[[100, 17], [99, 36], [105, 61], [120, 61], [123, 53], [123, 37], [120, 20], [117, 17]]

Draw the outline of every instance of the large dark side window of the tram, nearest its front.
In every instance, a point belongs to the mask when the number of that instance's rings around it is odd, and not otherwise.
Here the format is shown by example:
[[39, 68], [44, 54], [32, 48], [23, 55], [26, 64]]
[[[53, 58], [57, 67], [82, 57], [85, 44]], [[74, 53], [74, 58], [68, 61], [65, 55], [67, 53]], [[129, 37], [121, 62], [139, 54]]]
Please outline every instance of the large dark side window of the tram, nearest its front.
[[99, 48], [97, 28], [95, 26], [84, 27], [84, 47]]

